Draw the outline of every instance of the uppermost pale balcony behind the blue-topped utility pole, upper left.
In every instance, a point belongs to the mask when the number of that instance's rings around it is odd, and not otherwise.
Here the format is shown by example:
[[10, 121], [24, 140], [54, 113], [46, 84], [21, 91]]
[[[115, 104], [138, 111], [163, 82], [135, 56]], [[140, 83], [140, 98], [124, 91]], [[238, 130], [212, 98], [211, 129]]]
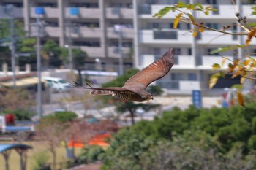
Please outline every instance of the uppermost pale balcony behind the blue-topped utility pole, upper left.
[[[59, 18], [59, 8], [55, 7], [42, 7], [44, 11], [44, 15], [42, 15], [44, 18]], [[30, 8], [30, 15], [31, 18], [37, 18], [36, 12], [35, 12], [36, 7], [31, 7]]]

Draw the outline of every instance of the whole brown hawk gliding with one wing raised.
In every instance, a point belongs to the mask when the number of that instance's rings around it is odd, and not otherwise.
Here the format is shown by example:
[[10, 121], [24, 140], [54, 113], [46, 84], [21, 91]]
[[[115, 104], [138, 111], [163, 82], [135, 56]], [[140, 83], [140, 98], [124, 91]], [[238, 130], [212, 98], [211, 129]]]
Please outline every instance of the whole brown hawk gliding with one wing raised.
[[146, 88], [151, 82], [164, 77], [172, 68], [174, 59], [174, 50], [170, 48], [162, 58], [154, 61], [145, 69], [141, 70], [134, 76], [130, 77], [127, 82], [125, 82], [123, 87], [113, 87], [113, 88], [93, 88], [90, 85], [79, 86], [78, 83], [74, 82], [73, 88], [85, 88], [90, 89], [91, 94], [94, 95], [112, 95], [120, 98], [124, 101], [148, 101], [153, 100], [151, 93], [146, 91]]

